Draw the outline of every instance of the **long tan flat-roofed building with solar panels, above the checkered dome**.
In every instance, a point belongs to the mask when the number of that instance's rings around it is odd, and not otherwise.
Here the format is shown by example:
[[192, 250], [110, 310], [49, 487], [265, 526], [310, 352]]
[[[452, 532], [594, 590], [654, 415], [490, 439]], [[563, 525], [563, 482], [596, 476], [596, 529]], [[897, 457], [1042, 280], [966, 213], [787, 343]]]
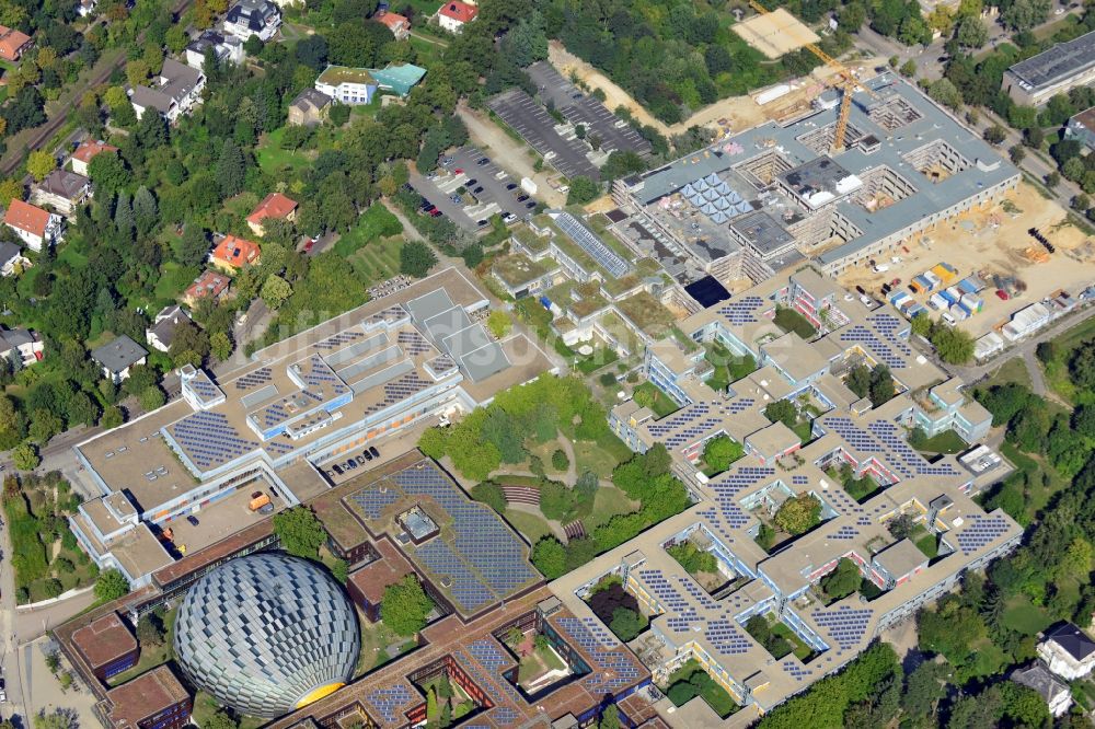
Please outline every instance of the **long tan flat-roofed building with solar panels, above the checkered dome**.
[[[268, 486], [279, 508], [293, 506], [322, 488], [313, 465], [440, 413], [471, 410], [553, 369], [523, 334], [496, 340], [473, 321], [487, 308], [450, 268], [216, 379], [182, 372], [181, 398], [76, 447], [102, 498], [81, 506], [73, 532], [102, 566], [107, 541], [210, 509], [246, 484]], [[283, 479], [286, 472], [293, 476]], [[237, 528], [260, 518], [242, 511]], [[138, 583], [147, 575], [128, 574]]]

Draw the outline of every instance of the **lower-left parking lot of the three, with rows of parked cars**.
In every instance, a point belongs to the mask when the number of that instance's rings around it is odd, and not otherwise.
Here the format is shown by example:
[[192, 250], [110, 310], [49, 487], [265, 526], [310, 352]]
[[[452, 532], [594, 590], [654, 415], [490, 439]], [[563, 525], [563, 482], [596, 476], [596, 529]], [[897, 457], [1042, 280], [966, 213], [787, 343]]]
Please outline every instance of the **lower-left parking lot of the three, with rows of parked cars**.
[[[511, 215], [521, 219], [535, 207], [535, 200], [521, 190], [516, 180], [474, 147], [461, 147], [442, 158], [441, 166], [431, 176], [411, 175], [411, 184], [442, 215], [468, 231], [487, 230], [480, 221], [488, 221], [491, 216]], [[462, 194], [461, 188], [465, 190]]]

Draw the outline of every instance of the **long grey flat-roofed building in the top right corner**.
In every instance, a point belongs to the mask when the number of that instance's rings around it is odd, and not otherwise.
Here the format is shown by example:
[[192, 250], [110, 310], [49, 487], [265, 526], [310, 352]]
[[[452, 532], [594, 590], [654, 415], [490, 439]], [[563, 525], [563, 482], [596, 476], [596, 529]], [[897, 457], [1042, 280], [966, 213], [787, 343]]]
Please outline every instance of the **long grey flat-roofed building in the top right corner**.
[[1003, 90], [1016, 104], [1040, 106], [1056, 94], [1095, 81], [1095, 31], [1015, 63]]

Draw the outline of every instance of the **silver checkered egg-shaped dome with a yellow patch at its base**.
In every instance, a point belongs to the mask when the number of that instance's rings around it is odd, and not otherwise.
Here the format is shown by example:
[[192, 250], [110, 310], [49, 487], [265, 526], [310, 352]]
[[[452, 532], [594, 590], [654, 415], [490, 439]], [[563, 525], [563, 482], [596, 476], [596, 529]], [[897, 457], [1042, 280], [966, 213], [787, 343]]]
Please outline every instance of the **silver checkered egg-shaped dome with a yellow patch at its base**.
[[186, 593], [175, 620], [186, 678], [224, 706], [274, 718], [353, 675], [360, 633], [342, 588], [279, 553], [220, 565]]

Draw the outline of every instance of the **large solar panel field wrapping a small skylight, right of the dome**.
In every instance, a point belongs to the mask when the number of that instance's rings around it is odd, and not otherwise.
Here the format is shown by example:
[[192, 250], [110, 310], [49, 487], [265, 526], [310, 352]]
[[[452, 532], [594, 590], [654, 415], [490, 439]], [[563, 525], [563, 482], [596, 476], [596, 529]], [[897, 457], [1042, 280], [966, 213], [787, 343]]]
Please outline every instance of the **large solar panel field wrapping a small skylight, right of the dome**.
[[451, 586], [447, 590], [465, 614], [540, 580], [528, 562], [525, 543], [489, 507], [469, 500], [431, 464], [400, 471], [355, 493], [350, 499], [367, 518], [379, 519], [404, 494], [433, 499], [451, 518], [451, 541], [435, 537], [412, 547], [412, 552], [430, 572], [449, 577]]

